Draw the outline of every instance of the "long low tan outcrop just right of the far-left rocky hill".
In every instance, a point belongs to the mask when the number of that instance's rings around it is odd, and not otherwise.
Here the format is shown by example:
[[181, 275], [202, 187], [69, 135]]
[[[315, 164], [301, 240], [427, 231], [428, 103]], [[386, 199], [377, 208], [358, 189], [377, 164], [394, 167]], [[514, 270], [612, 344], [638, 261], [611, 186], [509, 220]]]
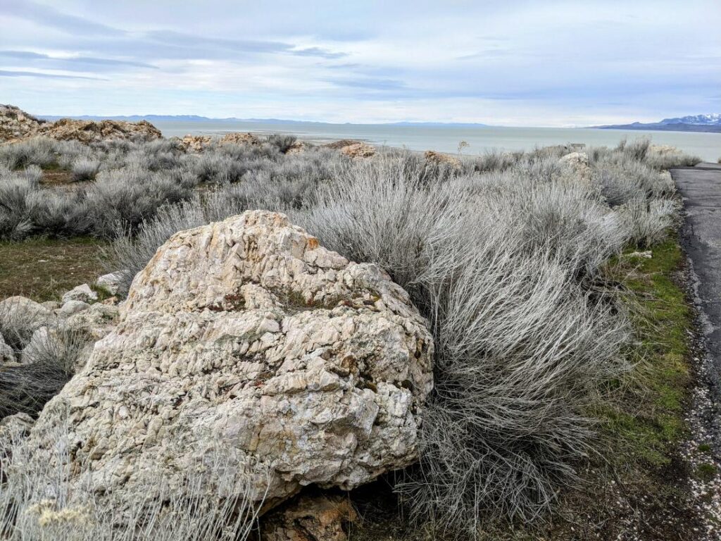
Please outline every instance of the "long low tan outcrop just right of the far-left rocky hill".
[[38, 128], [37, 135], [58, 141], [80, 141], [84, 144], [113, 139], [152, 141], [162, 137], [160, 130], [147, 120], [125, 122], [124, 120], [96, 121], [71, 118], [61, 118], [53, 123], [45, 123]]

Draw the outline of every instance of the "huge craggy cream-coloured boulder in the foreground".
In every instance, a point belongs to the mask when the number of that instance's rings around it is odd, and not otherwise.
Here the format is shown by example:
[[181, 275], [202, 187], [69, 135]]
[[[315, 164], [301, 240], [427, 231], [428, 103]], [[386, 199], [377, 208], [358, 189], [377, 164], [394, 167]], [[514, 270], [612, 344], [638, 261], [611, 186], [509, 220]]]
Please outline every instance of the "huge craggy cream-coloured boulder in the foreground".
[[253, 479], [268, 505], [304, 485], [351, 489], [415, 461], [432, 358], [384, 271], [247, 211], [159, 248], [29, 442], [52, 460], [48, 434], [67, 418], [71, 485], [123, 501], [211, 448], [269, 468]]

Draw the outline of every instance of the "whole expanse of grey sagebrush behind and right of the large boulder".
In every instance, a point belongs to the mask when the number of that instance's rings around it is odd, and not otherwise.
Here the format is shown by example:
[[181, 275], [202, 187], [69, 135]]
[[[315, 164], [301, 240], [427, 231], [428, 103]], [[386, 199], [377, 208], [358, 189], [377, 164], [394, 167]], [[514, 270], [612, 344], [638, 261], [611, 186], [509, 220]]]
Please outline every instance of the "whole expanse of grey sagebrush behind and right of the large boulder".
[[127, 291], [175, 232], [285, 212], [330, 249], [381, 265], [428, 318], [435, 391], [420, 462], [396, 486], [411, 515], [470, 535], [488, 520], [544, 516], [595, 451], [588, 407], [632, 368], [631, 324], [603, 265], [665, 237], [676, 203], [662, 170], [697, 159], [623, 142], [585, 149], [584, 176], [559, 161], [563, 147], [445, 164], [397, 149], [284, 154], [295, 142], [200, 154], [176, 141], [54, 146], [61, 167], [83, 164], [71, 190], [44, 187], [31, 168], [47, 144], [6, 151], [0, 237], [112, 239], [110, 270]]

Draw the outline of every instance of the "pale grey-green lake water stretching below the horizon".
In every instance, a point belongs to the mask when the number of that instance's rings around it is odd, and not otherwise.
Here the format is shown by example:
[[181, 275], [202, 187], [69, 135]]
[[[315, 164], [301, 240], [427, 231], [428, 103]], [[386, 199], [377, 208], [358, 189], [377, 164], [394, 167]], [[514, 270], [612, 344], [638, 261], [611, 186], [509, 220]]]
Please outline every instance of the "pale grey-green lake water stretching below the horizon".
[[721, 133], [679, 131], [594, 130], [588, 128], [498, 128], [456, 126], [387, 126], [377, 124], [262, 123], [262, 122], [161, 122], [154, 124], [166, 137], [219, 135], [230, 131], [252, 133], [291, 133], [306, 141], [324, 143], [338, 139], [362, 139], [371, 144], [405, 147], [410, 150], [457, 152], [466, 141], [463, 153], [481, 154], [490, 149], [531, 150], [536, 146], [585, 143], [591, 146], [615, 146], [622, 138], [629, 141], [650, 137], [655, 144], [668, 144], [707, 162], [721, 157]]

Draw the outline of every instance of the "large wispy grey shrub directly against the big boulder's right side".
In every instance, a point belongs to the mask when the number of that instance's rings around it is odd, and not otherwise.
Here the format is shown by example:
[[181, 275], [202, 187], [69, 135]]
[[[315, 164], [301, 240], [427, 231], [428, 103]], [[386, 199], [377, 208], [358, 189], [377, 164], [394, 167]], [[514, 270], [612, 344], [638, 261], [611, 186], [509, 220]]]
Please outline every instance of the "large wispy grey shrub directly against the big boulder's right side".
[[420, 465], [398, 488], [441, 529], [547, 510], [592, 449], [584, 407], [629, 369], [627, 317], [596, 280], [624, 224], [593, 190], [544, 173], [428, 188], [375, 162], [293, 214], [323, 245], [384, 266], [431, 322], [435, 393]]

